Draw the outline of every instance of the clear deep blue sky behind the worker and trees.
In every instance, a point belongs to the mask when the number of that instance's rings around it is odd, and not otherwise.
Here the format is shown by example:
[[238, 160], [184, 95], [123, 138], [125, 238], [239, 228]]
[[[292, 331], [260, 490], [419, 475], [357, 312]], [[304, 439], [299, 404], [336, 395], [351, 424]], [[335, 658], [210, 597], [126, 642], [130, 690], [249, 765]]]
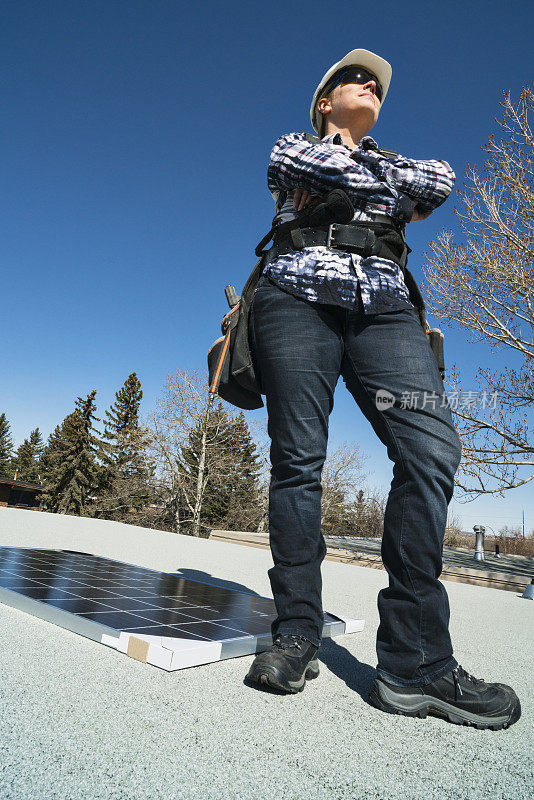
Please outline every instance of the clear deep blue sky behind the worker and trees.
[[[421, 282], [431, 239], [459, 232], [457, 193], [500, 132], [503, 90], [517, 102], [532, 84], [531, 11], [481, 0], [2, 3], [0, 412], [15, 444], [37, 426], [46, 438], [93, 388], [102, 416], [130, 372], [144, 414], [169, 372], [207, 374], [224, 287], [240, 293], [270, 227], [270, 150], [282, 133], [312, 132], [317, 83], [356, 47], [393, 67], [373, 138], [456, 172], [445, 205], [407, 229]], [[464, 391], [476, 390], [477, 366], [513, 363], [429, 322]], [[267, 421], [266, 409], [247, 413]], [[343, 441], [368, 456], [370, 485], [389, 487], [385, 448], [340, 379], [329, 446]], [[450, 509], [464, 529], [517, 524], [523, 510], [534, 527], [529, 485], [455, 496]]]

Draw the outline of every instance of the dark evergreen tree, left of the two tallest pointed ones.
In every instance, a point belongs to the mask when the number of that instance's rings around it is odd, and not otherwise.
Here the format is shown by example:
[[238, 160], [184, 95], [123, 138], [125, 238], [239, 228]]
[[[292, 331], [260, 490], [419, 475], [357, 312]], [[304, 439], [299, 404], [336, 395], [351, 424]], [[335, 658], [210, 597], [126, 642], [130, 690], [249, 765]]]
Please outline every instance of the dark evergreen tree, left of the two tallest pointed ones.
[[[43, 453], [46, 494], [42, 503], [58, 514], [83, 516], [90, 505], [89, 495], [98, 482], [96, 454], [100, 441], [94, 436], [96, 389], [84, 400], [76, 399], [76, 409], [56, 427]], [[95, 431], [98, 433], [98, 431]]]

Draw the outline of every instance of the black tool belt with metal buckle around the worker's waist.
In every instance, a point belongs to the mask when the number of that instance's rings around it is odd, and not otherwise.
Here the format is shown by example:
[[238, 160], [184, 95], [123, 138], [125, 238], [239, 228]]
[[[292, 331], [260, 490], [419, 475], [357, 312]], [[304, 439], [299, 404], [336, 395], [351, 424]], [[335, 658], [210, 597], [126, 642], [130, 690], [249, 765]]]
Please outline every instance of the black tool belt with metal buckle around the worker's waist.
[[395, 228], [373, 222], [351, 222], [347, 225], [333, 222], [314, 228], [293, 228], [273, 238], [269, 261], [284, 253], [304, 247], [329, 247], [361, 256], [379, 256], [394, 261], [402, 270], [406, 267], [411, 249]]

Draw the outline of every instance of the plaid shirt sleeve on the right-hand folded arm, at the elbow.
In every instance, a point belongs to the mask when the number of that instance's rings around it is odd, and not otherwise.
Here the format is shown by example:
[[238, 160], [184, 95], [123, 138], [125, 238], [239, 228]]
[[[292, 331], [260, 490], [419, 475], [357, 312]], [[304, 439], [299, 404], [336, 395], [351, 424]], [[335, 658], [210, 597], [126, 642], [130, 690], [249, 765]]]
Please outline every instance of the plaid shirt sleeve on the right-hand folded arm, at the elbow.
[[423, 211], [434, 211], [452, 192], [456, 176], [447, 161], [418, 161], [397, 156], [386, 169], [387, 181], [417, 202]]

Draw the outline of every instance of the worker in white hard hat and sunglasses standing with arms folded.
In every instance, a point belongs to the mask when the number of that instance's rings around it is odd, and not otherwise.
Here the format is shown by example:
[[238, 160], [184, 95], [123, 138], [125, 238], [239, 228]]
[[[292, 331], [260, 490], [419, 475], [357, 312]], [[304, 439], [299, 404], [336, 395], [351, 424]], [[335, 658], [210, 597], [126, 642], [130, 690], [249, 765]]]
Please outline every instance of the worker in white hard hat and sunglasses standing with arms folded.
[[[368, 135], [390, 79], [388, 62], [368, 50], [353, 50], [328, 70], [310, 109], [320, 141], [290, 133], [273, 147], [275, 225], [341, 188], [354, 206], [353, 227], [388, 226], [402, 239], [407, 222], [426, 219], [447, 199], [455, 175], [446, 161], [384, 154]], [[382, 538], [389, 586], [378, 595], [369, 701], [390, 713], [507, 727], [520, 716], [515, 692], [474, 678], [453, 656], [439, 576], [461, 442], [443, 381], [400, 259], [344, 249], [342, 228], [303, 230], [302, 239], [278, 244], [275, 237], [250, 309], [271, 438], [268, 575], [277, 618], [273, 645], [247, 678], [298, 692], [319, 674], [321, 471], [341, 375], [393, 462]]]

